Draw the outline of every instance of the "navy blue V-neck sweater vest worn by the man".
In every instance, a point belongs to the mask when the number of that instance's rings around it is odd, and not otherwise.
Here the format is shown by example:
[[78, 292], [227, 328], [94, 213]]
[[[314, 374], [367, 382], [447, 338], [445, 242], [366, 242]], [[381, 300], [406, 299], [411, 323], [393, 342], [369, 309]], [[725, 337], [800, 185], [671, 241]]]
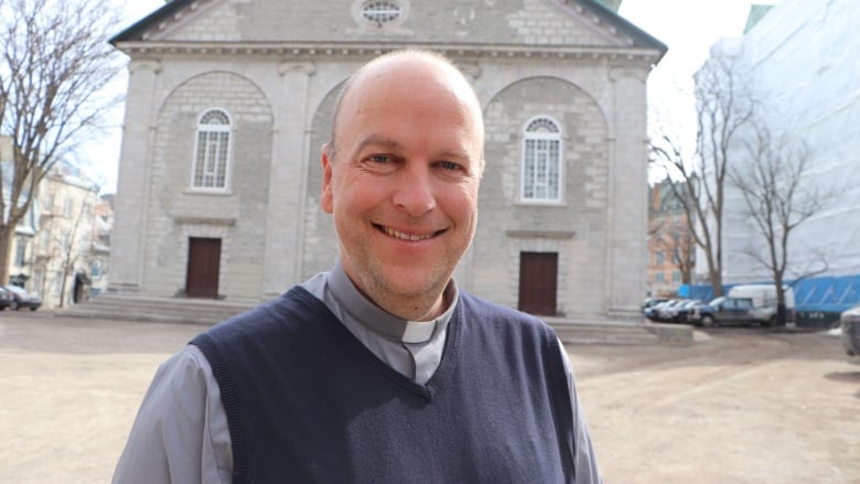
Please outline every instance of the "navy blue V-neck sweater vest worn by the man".
[[221, 386], [234, 483], [573, 481], [555, 333], [464, 292], [427, 385], [376, 358], [301, 288], [192, 344]]

